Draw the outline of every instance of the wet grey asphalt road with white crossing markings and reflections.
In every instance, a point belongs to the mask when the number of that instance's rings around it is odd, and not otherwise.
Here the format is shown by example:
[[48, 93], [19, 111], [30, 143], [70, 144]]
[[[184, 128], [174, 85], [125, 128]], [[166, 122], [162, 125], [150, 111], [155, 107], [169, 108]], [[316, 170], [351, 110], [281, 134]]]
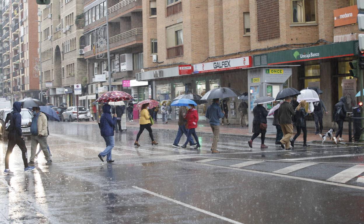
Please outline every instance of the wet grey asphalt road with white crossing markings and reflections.
[[[364, 150], [361, 146], [311, 143], [281, 150], [273, 140], [223, 138], [210, 154], [175, 149], [176, 132], [138, 130], [115, 134], [114, 163], [97, 157], [104, 140], [96, 125], [50, 123], [53, 164], [39, 155], [23, 172], [15, 148], [0, 176], [0, 223], [364, 223]], [[182, 137], [180, 144], [185, 140]], [[30, 141], [27, 141], [30, 156]], [[7, 143], [0, 143], [4, 164]], [[4, 165], [1, 166], [4, 169]]]

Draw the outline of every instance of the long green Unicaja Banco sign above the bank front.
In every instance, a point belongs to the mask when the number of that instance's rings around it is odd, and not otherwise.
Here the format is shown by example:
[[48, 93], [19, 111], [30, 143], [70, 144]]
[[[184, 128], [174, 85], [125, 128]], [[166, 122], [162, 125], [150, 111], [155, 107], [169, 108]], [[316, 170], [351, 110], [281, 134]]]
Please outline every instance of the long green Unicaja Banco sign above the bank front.
[[347, 57], [355, 54], [357, 41], [326, 44], [309, 48], [282, 50], [267, 54], [268, 65], [278, 65], [300, 61], [320, 60], [336, 57]]

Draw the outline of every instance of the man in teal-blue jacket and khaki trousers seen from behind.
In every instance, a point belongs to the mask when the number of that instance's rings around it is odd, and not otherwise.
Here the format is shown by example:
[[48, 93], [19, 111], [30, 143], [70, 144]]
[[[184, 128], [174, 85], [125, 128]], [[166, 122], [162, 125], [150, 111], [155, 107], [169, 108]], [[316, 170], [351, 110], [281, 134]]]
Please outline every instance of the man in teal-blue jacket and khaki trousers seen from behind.
[[205, 117], [209, 119], [210, 127], [212, 133], [214, 134], [214, 139], [211, 146], [211, 153], [220, 153], [217, 151], [217, 142], [220, 136], [220, 118], [225, 116], [225, 112], [221, 111], [219, 106], [219, 99], [214, 99], [213, 103], [207, 107]]

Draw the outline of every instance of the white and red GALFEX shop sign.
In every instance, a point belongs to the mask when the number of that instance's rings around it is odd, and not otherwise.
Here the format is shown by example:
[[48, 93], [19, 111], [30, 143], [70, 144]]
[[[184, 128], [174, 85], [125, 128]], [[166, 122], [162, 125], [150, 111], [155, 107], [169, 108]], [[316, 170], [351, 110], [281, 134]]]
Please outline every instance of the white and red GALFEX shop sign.
[[253, 66], [252, 57], [232, 58], [222, 61], [213, 61], [196, 64], [193, 67], [193, 73], [219, 72], [225, 70], [250, 68]]

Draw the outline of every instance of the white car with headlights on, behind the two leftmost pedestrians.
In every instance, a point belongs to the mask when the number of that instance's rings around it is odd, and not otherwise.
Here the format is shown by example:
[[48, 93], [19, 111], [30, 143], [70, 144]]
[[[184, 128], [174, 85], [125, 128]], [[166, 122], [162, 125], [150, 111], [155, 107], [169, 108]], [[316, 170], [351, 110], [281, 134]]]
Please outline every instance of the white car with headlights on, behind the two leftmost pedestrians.
[[[1, 126], [0, 134], [4, 140], [8, 138], [8, 132], [5, 130], [5, 119], [6, 115], [11, 111], [13, 111], [12, 108], [5, 108], [0, 110], [0, 126]], [[23, 132], [24, 137], [30, 136], [31, 133], [30, 133], [29, 122], [32, 121], [33, 113], [32, 111], [23, 108], [21, 109], [20, 114], [21, 114], [21, 132]]]

